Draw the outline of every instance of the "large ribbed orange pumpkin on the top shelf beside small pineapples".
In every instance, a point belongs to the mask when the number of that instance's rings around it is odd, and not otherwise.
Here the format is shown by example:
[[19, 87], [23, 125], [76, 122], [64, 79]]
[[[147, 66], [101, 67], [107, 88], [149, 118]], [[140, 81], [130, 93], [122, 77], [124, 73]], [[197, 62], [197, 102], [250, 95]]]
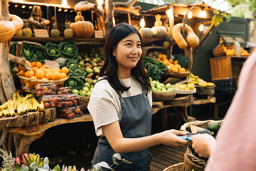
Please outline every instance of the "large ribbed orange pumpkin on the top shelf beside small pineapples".
[[78, 21], [70, 24], [75, 37], [89, 38], [93, 36], [94, 26], [88, 21]]

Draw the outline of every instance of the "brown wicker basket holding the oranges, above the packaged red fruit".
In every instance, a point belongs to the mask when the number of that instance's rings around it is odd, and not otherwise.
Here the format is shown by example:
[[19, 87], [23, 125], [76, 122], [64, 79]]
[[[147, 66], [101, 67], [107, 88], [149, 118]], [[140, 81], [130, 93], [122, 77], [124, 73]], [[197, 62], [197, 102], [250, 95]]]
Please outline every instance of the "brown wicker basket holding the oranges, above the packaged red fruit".
[[[29, 92], [29, 93], [32, 93], [32, 94], [36, 93], [35, 90], [34, 90], [34, 87], [38, 83], [55, 83], [57, 87], [62, 87], [64, 85], [65, 81], [69, 78], [69, 77], [66, 77], [66, 78], [58, 79], [58, 80], [41, 80], [41, 79], [30, 79], [30, 78], [27, 78], [27, 77], [24, 77], [24, 76], [21, 76], [21, 75], [17, 75], [17, 76], [20, 80], [20, 83], [22, 83], [22, 86], [25, 87], [24, 90], [26, 92]], [[28, 87], [26, 87], [27, 82], [29, 82], [30, 89]]]

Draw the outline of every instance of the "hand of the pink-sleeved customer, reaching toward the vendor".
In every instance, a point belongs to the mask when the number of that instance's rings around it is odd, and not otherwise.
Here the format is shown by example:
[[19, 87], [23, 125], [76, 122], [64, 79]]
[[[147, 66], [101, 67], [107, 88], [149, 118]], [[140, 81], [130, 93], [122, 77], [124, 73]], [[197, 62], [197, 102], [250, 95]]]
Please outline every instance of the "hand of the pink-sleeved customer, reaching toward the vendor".
[[200, 157], [208, 158], [215, 144], [215, 138], [209, 134], [199, 134], [192, 138], [192, 147]]

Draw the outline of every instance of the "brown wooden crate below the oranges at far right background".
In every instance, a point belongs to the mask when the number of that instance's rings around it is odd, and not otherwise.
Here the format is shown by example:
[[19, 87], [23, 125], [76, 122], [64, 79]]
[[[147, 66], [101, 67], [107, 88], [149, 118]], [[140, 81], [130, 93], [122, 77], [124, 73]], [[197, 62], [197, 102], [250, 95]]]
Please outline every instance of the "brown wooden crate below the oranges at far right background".
[[231, 57], [220, 56], [210, 58], [211, 80], [232, 78]]

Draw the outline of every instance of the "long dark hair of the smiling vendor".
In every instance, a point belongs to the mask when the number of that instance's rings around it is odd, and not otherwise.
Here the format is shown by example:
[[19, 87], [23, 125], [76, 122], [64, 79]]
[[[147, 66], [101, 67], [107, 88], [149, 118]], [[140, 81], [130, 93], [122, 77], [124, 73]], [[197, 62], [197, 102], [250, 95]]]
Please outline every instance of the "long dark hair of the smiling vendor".
[[[105, 41], [105, 62], [100, 69], [99, 76], [106, 76], [110, 85], [116, 91], [124, 91], [129, 90], [130, 87], [124, 87], [117, 76], [117, 61], [116, 57], [113, 56], [113, 50], [117, 47], [118, 43], [125, 37], [130, 34], [136, 33], [140, 37], [141, 35], [139, 31], [134, 27], [126, 23], [121, 23], [113, 27], [108, 33]], [[141, 46], [142, 48], [142, 46]], [[151, 90], [150, 78], [148, 78], [144, 67], [143, 67], [143, 56], [141, 54], [140, 60], [138, 61], [136, 67], [132, 68], [131, 75], [133, 75], [138, 82], [140, 82], [145, 89]]]

